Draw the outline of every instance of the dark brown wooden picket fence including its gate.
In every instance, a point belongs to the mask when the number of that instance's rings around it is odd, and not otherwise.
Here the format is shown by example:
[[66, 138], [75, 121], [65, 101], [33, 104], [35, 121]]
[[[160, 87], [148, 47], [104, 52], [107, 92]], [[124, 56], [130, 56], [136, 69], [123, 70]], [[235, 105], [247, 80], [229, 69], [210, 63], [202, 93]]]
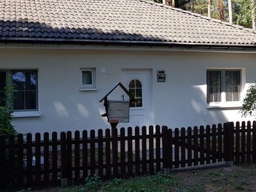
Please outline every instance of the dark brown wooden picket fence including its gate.
[[[134, 132], [133, 132], [134, 131]], [[43, 140], [42, 140], [43, 139]], [[95, 173], [102, 179], [153, 174], [199, 164], [256, 162], [256, 122], [188, 129], [135, 127], [90, 132], [45, 132], [0, 136], [1, 189], [79, 183]]]

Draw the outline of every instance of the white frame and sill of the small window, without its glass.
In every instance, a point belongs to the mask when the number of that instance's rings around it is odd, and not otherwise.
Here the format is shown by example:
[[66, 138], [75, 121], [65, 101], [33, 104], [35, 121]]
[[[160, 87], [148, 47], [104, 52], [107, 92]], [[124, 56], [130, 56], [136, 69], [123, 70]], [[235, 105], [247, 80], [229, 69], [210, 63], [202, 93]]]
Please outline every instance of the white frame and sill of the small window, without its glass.
[[[92, 72], [92, 84], [83, 84], [83, 72]], [[96, 68], [80, 68], [80, 91], [97, 91], [96, 87]]]

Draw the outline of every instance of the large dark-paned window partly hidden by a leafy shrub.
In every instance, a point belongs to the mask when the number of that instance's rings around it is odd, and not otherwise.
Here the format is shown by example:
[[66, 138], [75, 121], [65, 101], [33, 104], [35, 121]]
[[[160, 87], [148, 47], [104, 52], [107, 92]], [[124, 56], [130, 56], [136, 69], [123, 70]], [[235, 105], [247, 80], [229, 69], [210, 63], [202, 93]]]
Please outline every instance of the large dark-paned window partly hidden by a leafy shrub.
[[37, 111], [38, 110], [38, 88], [36, 70], [8, 70], [0, 72], [0, 97], [4, 97], [6, 79], [12, 78], [17, 92], [14, 93], [13, 111]]

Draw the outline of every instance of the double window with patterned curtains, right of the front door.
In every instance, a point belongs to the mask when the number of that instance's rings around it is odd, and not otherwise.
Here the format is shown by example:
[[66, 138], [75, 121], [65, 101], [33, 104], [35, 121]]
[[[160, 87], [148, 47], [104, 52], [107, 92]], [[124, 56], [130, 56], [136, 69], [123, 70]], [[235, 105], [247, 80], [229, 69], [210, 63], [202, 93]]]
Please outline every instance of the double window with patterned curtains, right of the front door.
[[241, 70], [207, 70], [207, 103], [240, 101]]

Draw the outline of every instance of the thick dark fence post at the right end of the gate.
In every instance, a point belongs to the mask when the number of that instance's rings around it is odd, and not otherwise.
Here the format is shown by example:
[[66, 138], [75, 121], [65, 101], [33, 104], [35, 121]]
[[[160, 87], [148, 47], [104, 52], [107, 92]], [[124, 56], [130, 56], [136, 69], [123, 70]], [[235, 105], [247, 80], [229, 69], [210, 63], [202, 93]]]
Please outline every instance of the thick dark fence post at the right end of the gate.
[[234, 122], [224, 124], [224, 152], [225, 162], [234, 164]]

